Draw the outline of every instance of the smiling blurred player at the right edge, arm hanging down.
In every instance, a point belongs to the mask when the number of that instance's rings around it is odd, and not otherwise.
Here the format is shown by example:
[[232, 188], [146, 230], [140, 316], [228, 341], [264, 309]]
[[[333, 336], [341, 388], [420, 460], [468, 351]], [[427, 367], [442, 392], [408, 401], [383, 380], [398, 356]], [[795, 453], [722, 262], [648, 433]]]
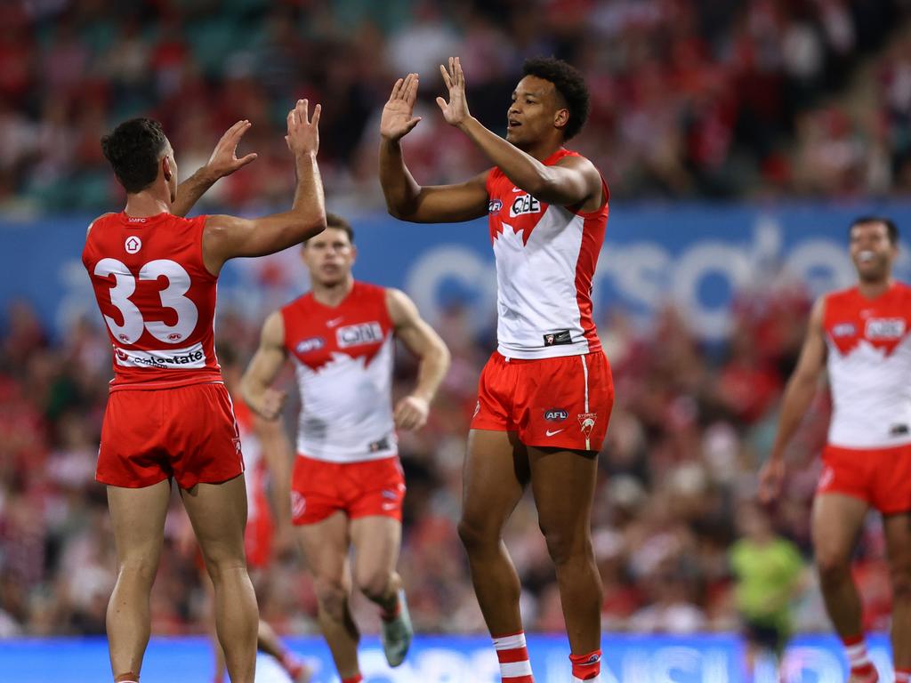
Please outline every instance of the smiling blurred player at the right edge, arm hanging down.
[[829, 618], [844, 642], [851, 683], [875, 683], [861, 630], [851, 556], [867, 511], [883, 515], [892, 575], [896, 683], [911, 677], [911, 288], [892, 279], [898, 230], [856, 219], [850, 254], [857, 284], [816, 301], [800, 360], [784, 392], [764, 501], [778, 495], [784, 449], [828, 370], [833, 413], [813, 505], [813, 545]]

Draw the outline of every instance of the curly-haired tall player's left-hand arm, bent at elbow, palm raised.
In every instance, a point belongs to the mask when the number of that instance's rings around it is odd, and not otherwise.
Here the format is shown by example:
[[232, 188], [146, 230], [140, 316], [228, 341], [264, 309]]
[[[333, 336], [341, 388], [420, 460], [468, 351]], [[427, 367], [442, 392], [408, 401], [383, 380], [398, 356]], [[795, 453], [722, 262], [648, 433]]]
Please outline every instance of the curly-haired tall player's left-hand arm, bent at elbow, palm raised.
[[380, 185], [386, 209], [414, 223], [453, 223], [487, 212], [486, 172], [456, 185], [421, 187], [405, 166], [401, 140], [420, 122], [414, 116], [417, 74], [395, 81], [380, 119]]

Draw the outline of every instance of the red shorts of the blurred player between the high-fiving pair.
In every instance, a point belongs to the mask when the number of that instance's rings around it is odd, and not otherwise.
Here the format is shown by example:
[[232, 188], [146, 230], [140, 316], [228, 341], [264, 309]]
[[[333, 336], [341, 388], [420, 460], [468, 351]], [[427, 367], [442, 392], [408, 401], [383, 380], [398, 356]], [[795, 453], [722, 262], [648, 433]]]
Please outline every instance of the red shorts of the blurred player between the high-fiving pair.
[[379, 515], [402, 521], [404, 472], [398, 456], [329, 463], [298, 455], [291, 484], [295, 525], [322, 522], [337, 511], [349, 519]]

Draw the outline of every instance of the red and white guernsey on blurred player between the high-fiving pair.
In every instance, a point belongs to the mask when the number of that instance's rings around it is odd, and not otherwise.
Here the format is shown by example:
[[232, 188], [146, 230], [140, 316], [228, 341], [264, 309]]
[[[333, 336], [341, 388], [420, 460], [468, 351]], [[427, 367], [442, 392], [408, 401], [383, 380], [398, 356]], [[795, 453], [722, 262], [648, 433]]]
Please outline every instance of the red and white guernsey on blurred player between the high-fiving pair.
[[333, 463], [397, 454], [385, 289], [355, 281], [335, 308], [305, 294], [281, 316], [301, 391], [298, 454]]

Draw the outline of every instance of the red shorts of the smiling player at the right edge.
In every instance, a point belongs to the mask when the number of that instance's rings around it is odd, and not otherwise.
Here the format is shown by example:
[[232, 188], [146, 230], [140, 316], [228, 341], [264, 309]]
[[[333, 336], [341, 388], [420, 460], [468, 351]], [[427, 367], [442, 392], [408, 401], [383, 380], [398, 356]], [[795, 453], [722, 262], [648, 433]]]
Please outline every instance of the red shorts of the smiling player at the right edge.
[[818, 494], [860, 498], [884, 515], [911, 511], [911, 444], [891, 448], [823, 449]]

